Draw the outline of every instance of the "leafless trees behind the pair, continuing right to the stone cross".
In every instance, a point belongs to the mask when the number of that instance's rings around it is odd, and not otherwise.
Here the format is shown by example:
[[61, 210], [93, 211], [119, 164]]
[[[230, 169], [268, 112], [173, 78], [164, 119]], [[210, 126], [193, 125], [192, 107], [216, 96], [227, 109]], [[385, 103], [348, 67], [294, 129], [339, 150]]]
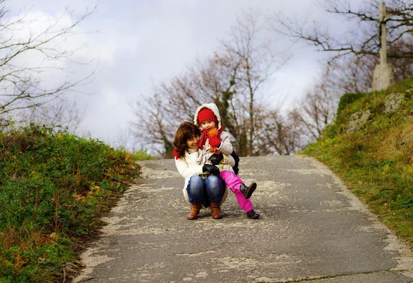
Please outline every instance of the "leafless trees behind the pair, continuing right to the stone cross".
[[[388, 1], [388, 61], [394, 65], [396, 80], [411, 76], [413, 70], [413, 3]], [[136, 101], [132, 129], [140, 143], [171, 157], [171, 140], [184, 120], [193, 120], [203, 103], [218, 105], [222, 122], [233, 135], [240, 156], [294, 154], [318, 140], [326, 125], [335, 119], [340, 96], [345, 92], [368, 92], [372, 72], [379, 63], [379, 1], [363, 1], [353, 8], [350, 1], [325, 0], [327, 12], [338, 14], [354, 27], [347, 36], [334, 38], [317, 23], [277, 17], [272, 29], [332, 52], [324, 74], [313, 90], [287, 112], [274, 107], [266, 84], [288, 60], [275, 52], [270, 41], [258, 41], [264, 26], [262, 14], [245, 12], [220, 41], [220, 48], [206, 61], [198, 61], [187, 72], [153, 85], [147, 99]], [[357, 19], [357, 21], [354, 21]]]

